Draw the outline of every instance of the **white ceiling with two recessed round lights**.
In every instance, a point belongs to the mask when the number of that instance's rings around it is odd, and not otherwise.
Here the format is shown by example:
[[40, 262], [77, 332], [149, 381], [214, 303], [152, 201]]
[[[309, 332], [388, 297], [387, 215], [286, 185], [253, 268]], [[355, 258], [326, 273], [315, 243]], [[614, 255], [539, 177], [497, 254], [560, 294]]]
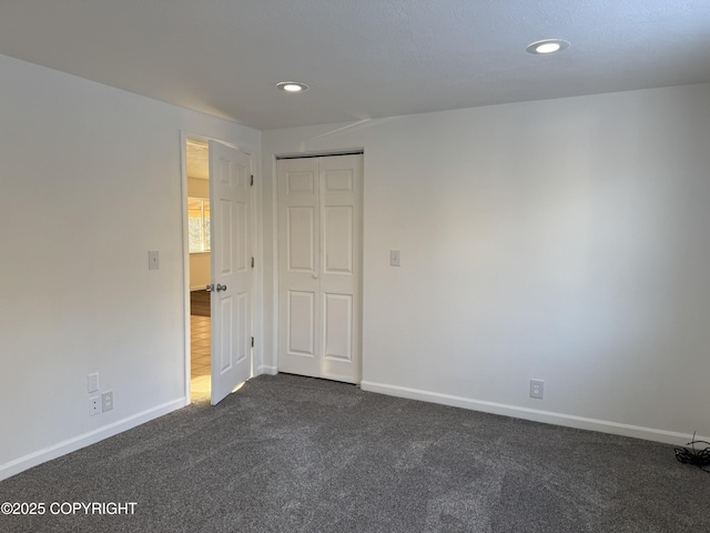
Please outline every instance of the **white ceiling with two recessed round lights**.
[[709, 82], [710, 0], [1, 0], [0, 53], [266, 130]]

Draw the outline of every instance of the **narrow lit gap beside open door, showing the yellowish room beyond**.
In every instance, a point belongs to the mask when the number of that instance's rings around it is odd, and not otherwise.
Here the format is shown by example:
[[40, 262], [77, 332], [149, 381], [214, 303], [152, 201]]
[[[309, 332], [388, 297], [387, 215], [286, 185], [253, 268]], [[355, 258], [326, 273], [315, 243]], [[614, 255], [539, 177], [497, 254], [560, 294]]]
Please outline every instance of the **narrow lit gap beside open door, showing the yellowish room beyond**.
[[212, 318], [210, 284], [210, 147], [204, 141], [185, 141], [187, 177], [187, 243], [190, 252], [190, 396], [209, 400], [212, 391]]

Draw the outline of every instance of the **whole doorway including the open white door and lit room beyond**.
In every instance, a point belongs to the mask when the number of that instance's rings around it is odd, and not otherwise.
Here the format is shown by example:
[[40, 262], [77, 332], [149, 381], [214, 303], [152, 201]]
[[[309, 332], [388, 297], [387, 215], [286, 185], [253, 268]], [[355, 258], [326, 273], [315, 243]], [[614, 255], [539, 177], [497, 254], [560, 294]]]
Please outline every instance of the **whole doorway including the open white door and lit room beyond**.
[[185, 388], [216, 405], [252, 376], [252, 157], [194, 135], [182, 149]]

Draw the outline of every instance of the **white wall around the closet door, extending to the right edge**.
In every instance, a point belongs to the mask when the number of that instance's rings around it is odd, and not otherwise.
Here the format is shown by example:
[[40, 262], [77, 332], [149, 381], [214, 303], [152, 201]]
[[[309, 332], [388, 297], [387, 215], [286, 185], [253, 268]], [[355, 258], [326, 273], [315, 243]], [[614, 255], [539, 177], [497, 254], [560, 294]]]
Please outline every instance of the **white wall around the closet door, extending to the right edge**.
[[710, 86], [266, 131], [266, 301], [274, 155], [348, 148], [365, 151], [364, 389], [710, 435]]

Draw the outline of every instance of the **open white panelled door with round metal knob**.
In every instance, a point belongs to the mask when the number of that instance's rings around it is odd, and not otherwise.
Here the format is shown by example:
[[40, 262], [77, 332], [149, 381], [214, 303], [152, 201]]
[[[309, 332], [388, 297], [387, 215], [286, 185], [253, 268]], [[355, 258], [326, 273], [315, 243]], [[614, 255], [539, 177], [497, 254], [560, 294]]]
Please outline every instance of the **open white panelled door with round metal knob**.
[[212, 404], [252, 375], [251, 158], [210, 141]]

